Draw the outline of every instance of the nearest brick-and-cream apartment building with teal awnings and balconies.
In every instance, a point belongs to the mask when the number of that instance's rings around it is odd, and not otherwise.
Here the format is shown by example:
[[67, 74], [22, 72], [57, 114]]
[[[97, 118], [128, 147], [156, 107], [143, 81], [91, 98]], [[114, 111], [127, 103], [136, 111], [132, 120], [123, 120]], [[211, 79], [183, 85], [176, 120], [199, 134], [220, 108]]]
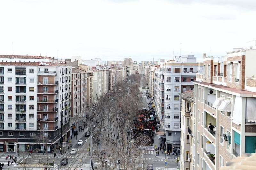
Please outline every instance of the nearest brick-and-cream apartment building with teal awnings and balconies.
[[204, 72], [194, 81], [190, 169], [217, 170], [241, 153], [255, 152], [255, 55], [251, 48], [225, 57], [204, 54]]

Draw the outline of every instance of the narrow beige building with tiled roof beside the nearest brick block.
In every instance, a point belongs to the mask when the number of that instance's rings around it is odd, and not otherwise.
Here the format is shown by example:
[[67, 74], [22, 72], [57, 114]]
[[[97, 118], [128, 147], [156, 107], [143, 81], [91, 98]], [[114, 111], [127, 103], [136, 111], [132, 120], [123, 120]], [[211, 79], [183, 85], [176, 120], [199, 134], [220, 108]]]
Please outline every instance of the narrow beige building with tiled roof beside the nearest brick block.
[[192, 158], [192, 131], [193, 126], [193, 104], [194, 104], [194, 90], [188, 90], [180, 93], [181, 111], [180, 111], [180, 169], [189, 170]]

